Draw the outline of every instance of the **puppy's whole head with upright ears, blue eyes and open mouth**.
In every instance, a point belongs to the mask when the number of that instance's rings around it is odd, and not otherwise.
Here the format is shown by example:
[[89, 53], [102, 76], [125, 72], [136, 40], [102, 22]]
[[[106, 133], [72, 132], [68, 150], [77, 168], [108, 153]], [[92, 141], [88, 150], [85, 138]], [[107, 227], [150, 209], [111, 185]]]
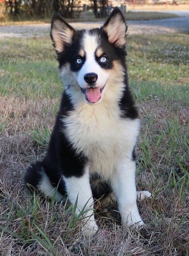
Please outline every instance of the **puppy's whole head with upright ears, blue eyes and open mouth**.
[[107, 91], [115, 62], [125, 65], [126, 31], [119, 8], [114, 8], [100, 29], [79, 31], [56, 13], [51, 38], [65, 88], [79, 88], [87, 103], [99, 103]]

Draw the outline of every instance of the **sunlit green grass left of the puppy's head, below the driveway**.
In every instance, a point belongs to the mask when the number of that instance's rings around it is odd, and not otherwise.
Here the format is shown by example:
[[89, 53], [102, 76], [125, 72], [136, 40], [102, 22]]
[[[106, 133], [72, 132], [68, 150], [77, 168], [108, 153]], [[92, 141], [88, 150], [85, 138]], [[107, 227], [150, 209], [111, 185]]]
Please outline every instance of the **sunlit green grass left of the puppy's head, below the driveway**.
[[[15, 51], [15, 49], [19, 49]], [[2, 96], [56, 98], [63, 85], [51, 41], [43, 39], [9, 39], [0, 56]]]

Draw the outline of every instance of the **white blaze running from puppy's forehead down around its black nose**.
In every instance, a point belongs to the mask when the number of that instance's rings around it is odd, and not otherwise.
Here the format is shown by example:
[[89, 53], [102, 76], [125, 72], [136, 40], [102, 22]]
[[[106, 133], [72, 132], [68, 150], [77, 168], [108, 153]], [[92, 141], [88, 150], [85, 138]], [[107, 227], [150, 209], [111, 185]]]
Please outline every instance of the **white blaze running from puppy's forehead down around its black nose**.
[[87, 31], [83, 38], [83, 49], [86, 54], [86, 60], [83, 67], [78, 72], [77, 81], [79, 86], [82, 89], [86, 89], [88, 84], [84, 80], [84, 75], [88, 73], [96, 73], [98, 75], [96, 87], [104, 87], [109, 77], [109, 72], [101, 68], [95, 59], [95, 52], [98, 49], [98, 35], [90, 35]]

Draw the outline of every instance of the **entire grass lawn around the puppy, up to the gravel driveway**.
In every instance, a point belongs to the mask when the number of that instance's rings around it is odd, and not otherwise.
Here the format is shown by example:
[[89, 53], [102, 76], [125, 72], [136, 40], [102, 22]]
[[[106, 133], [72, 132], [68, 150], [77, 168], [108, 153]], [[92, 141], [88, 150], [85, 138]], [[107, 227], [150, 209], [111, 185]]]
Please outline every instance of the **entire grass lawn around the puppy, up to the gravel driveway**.
[[[0, 254], [188, 255], [188, 34], [128, 37], [130, 85], [140, 112], [138, 203], [149, 225], [121, 225], [96, 203], [100, 232], [79, 232], [75, 207], [31, 195], [23, 174], [44, 156], [63, 86], [49, 37], [1, 39]], [[56, 191], [55, 191], [56, 193]]]

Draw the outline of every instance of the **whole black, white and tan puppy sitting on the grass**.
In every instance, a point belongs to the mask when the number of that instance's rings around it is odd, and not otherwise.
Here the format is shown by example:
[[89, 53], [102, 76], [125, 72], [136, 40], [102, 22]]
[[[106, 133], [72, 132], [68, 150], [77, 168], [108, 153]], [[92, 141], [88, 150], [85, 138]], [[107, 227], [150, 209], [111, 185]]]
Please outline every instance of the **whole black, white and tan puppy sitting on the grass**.
[[83, 230], [98, 226], [93, 199], [114, 193], [123, 223], [143, 225], [136, 199], [134, 147], [138, 113], [126, 68], [127, 26], [115, 8], [100, 29], [76, 31], [55, 14], [51, 38], [64, 92], [46, 156], [32, 164], [25, 181], [42, 194], [68, 195], [76, 214], [88, 209]]

